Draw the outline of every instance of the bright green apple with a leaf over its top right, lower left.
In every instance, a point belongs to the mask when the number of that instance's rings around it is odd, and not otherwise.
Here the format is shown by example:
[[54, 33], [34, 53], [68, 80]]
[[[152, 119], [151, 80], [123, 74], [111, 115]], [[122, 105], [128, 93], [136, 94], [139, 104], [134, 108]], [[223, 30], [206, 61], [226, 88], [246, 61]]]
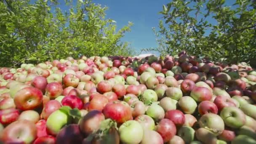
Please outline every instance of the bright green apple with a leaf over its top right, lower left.
[[71, 122], [71, 117], [61, 109], [53, 112], [46, 121], [46, 127], [50, 134], [56, 136], [61, 128]]

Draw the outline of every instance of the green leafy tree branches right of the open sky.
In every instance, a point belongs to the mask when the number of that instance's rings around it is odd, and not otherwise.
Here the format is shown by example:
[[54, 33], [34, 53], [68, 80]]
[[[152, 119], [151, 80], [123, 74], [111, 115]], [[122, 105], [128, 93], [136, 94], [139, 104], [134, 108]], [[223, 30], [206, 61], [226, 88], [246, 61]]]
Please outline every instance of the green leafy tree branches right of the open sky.
[[161, 54], [186, 50], [213, 60], [256, 63], [256, 1], [234, 2], [226, 6], [225, 0], [172, 0], [163, 5], [160, 30], [153, 28], [159, 46], [148, 50]]

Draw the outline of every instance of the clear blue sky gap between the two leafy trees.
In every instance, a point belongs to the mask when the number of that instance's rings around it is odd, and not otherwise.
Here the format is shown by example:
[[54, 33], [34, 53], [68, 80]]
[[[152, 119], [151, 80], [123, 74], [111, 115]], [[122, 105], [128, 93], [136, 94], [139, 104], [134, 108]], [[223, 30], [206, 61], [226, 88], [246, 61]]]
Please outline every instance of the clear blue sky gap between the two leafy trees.
[[162, 11], [162, 5], [170, 0], [93, 0], [95, 3], [106, 5], [107, 17], [117, 21], [121, 28], [133, 22], [131, 32], [126, 33], [122, 40], [131, 43], [131, 47], [141, 48], [157, 47], [152, 27], [157, 27]]

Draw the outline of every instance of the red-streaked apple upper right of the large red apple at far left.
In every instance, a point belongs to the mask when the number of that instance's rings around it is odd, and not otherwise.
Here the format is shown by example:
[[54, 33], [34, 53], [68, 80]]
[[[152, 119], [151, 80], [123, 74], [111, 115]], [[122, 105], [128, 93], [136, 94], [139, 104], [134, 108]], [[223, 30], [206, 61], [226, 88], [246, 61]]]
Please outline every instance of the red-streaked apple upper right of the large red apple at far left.
[[60, 96], [62, 93], [62, 85], [57, 82], [48, 83], [45, 88], [45, 96], [48, 96], [50, 99], [55, 99]]

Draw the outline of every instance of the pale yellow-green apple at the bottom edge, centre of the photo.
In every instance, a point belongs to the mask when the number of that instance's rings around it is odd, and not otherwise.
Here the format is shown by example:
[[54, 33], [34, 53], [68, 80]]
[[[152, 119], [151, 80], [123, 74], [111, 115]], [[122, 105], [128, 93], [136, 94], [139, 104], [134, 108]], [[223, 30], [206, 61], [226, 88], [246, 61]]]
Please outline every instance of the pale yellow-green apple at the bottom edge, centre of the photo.
[[143, 128], [136, 120], [128, 120], [123, 123], [118, 129], [118, 133], [120, 141], [124, 144], [139, 144], [143, 138]]

